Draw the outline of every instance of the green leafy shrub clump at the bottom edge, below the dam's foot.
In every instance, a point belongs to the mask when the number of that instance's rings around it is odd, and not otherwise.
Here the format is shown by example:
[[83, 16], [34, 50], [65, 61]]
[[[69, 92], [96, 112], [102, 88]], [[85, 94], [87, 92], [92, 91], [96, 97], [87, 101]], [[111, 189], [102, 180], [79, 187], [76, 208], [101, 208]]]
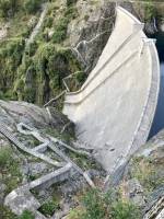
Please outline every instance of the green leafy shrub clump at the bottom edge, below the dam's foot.
[[69, 219], [141, 219], [139, 209], [129, 201], [122, 201], [116, 192], [104, 194], [99, 189], [91, 189], [82, 197], [81, 205], [81, 208], [71, 211]]

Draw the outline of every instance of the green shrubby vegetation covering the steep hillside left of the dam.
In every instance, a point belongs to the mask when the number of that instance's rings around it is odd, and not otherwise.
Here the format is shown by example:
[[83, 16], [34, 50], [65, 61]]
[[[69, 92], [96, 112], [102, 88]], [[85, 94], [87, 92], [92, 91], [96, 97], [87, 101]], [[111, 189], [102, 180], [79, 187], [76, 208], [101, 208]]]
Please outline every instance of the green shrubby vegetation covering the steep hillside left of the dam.
[[[66, 76], [82, 70], [72, 50], [65, 46], [68, 24], [78, 15], [75, 1], [68, 0], [62, 7], [56, 0], [49, 2], [39, 34], [25, 47], [34, 28], [34, 24], [28, 24], [30, 20], [39, 19], [42, 3], [38, 0], [0, 3], [1, 18], [8, 19], [12, 25], [8, 38], [0, 42], [1, 99], [43, 104], [63, 89]], [[19, 25], [24, 26], [21, 32], [20, 28], [16, 31]]]

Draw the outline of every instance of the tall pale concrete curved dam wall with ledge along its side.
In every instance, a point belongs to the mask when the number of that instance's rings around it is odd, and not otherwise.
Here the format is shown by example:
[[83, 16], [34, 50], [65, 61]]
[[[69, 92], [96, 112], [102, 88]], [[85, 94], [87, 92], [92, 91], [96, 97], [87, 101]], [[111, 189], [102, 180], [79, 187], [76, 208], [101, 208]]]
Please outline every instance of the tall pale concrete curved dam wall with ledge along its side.
[[143, 27], [118, 7], [115, 28], [96, 67], [82, 88], [65, 99], [63, 114], [75, 124], [77, 137], [95, 150], [109, 172], [145, 142], [157, 104], [159, 56]]

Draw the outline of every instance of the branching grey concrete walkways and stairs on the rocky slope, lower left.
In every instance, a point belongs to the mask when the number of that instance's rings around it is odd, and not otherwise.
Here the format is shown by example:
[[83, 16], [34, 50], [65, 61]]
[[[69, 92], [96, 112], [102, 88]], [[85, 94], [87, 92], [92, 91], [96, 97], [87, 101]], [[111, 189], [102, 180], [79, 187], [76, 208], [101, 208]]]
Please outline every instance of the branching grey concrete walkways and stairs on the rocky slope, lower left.
[[[52, 138], [50, 136], [42, 137], [37, 129], [32, 128], [25, 124], [17, 124], [17, 130], [23, 135], [33, 135], [38, 141], [42, 143], [36, 146], [33, 149], [24, 146], [19, 139], [8, 129], [8, 127], [1, 123], [0, 132], [5, 136], [12, 143], [14, 143], [20, 150], [30, 153], [36, 158], [39, 158], [47, 163], [59, 168], [47, 175], [44, 175], [31, 183], [20, 186], [19, 188], [12, 191], [4, 200], [5, 206], [10, 207], [12, 211], [16, 215], [21, 215], [25, 209], [34, 212], [36, 219], [46, 219], [37, 209], [40, 207], [39, 201], [34, 197], [31, 193], [34, 188], [46, 188], [51, 186], [55, 183], [63, 182], [71, 177], [75, 172], [83, 175], [86, 180], [87, 184], [92, 187], [95, 187], [90, 176], [84, 172], [81, 168], [79, 168], [71, 159], [69, 159], [61, 150], [59, 150], [58, 146], [65, 147], [67, 149], [71, 149], [70, 146], [67, 146], [61, 140], [57, 138]], [[58, 162], [52, 160], [51, 158], [45, 155], [47, 149], [51, 149], [59, 159], [63, 160], [63, 162]], [[74, 152], [83, 153], [82, 151], [77, 151], [75, 149], [71, 149]], [[86, 154], [86, 152], [84, 152]]]

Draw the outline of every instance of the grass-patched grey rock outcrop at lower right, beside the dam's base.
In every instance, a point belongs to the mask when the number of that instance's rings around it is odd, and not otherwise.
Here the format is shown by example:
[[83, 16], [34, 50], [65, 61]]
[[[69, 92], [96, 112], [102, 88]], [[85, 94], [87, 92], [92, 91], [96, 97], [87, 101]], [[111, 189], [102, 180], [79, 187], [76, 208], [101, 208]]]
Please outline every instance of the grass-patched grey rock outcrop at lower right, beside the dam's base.
[[[144, 218], [156, 218], [164, 197], [164, 130], [142, 146], [126, 168], [120, 191], [142, 209]], [[156, 206], [156, 207], [155, 207]]]

